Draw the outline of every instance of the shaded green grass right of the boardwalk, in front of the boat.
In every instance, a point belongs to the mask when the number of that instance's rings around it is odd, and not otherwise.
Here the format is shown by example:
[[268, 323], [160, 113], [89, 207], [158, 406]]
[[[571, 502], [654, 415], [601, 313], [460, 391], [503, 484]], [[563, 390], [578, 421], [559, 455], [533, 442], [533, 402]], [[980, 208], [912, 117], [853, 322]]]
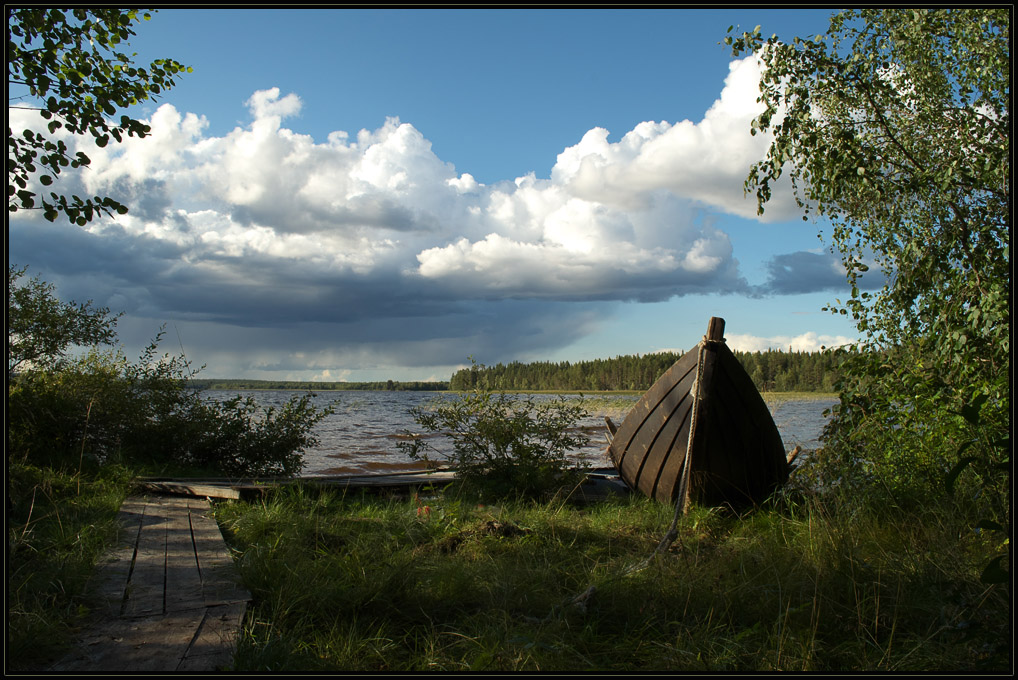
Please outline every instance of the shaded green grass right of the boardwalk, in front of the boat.
[[295, 488], [217, 511], [256, 601], [242, 671], [924, 671], [1010, 665], [978, 539], [809, 499], [479, 505]]

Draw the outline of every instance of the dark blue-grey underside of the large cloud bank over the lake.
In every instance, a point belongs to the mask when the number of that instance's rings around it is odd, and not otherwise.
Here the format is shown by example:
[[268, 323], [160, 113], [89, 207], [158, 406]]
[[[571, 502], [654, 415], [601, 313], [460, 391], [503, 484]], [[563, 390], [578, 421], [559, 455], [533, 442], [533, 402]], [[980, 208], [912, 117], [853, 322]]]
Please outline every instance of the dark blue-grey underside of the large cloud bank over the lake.
[[[548, 283], [536, 280], [548, 268], [531, 262], [528, 269], [520, 265], [507, 273], [511, 286], [485, 287], [474, 272], [439, 280], [398, 267], [354, 273], [257, 251], [194, 260], [186, 245], [128, 234], [116, 223], [91, 233], [69, 224], [15, 220], [9, 233], [11, 262], [42, 263], [34, 271], [115, 311], [245, 328], [358, 323], [353, 335], [363, 342], [419, 336], [434, 320], [443, 320], [440, 327], [469, 332], [469, 323], [487, 323], [486, 310], [500, 300], [510, 301], [498, 308], [502, 315], [513, 309], [516, 335], [522, 337], [532, 326], [527, 317], [548, 325], [561, 315], [561, 309], [542, 311], [555, 308], [556, 301], [660, 301], [691, 292], [747, 290], [734, 261], [710, 278], [681, 269], [634, 275], [619, 268], [587, 268], [569, 281]], [[450, 321], [467, 319], [474, 321]]]

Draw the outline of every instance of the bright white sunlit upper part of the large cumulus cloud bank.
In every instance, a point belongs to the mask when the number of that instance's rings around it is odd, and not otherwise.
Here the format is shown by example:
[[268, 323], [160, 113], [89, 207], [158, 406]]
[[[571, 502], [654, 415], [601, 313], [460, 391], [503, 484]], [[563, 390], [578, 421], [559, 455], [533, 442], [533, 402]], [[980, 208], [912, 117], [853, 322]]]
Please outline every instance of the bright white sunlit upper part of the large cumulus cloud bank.
[[247, 126], [221, 137], [206, 136], [205, 118], [164, 104], [149, 138], [89, 150], [88, 188], [136, 186], [150, 201], [162, 197], [117, 228], [173, 243], [190, 262], [244, 267], [259, 256], [280, 267], [455, 285], [466, 296], [738, 290], [744, 282], [727, 235], [694, 225], [692, 215], [699, 204], [748, 212], [740, 159], [759, 146], [746, 131], [754, 69], [751, 60], [734, 62], [697, 124], [640, 123], [616, 144], [607, 130], [588, 131], [559, 156], [550, 179], [479, 184], [396, 118], [355, 141], [337, 131], [318, 144], [283, 126], [301, 101], [272, 88], [247, 100]]

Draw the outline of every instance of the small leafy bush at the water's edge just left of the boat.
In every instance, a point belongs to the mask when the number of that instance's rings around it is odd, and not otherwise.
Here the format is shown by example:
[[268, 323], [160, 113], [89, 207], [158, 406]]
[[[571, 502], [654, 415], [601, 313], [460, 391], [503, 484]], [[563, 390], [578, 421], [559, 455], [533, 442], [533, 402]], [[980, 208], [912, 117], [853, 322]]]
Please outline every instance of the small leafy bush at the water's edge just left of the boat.
[[576, 430], [586, 413], [574, 401], [538, 403], [532, 395], [478, 390], [412, 408], [410, 414], [426, 432], [451, 440], [452, 452], [443, 454], [411, 433], [399, 448], [414, 460], [439, 454], [466, 486], [497, 496], [535, 497], [576, 480], [567, 454], [586, 443]]

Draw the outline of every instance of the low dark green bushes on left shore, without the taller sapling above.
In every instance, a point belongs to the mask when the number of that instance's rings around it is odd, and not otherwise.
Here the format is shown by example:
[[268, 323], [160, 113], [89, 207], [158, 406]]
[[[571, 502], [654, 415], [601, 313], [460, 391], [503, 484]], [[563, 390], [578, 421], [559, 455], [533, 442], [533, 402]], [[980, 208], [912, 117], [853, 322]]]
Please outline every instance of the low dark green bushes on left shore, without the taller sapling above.
[[318, 441], [314, 426], [329, 412], [312, 405], [313, 394], [265, 411], [249, 397], [207, 398], [188, 385], [182, 356], [155, 356], [159, 340], [137, 362], [97, 349], [12, 381], [9, 458], [235, 476], [300, 471], [301, 453]]

